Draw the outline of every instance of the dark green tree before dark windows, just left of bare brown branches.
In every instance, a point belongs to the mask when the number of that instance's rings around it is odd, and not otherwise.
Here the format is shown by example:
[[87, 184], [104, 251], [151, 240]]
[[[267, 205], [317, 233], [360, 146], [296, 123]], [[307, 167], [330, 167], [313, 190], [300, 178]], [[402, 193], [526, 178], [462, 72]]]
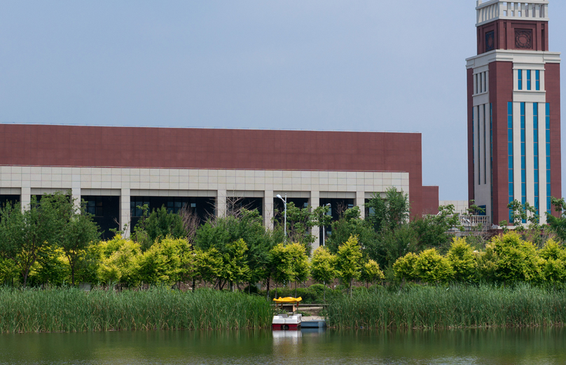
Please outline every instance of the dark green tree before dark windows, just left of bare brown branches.
[[149, 249], [154, 242], [160, 242], [165, 237], [171, 236], [175, 239], [187, 237], [183, 219], [177, 213], [167, 212], [165, 206], [153, 209], [147, 214], [144, 205], [144, 214], [134, 228], [132, 238], [141, 244], [144, 251]]

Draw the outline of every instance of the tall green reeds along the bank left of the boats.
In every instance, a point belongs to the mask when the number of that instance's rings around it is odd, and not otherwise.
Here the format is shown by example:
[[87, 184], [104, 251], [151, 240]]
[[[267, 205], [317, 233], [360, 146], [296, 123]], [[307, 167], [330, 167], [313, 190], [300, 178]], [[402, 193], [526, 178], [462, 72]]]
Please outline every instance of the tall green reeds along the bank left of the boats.
[[0, 289], [0, 331], [251, 329], [270, 326], [265, 298], [154, 288], [147, 291]]

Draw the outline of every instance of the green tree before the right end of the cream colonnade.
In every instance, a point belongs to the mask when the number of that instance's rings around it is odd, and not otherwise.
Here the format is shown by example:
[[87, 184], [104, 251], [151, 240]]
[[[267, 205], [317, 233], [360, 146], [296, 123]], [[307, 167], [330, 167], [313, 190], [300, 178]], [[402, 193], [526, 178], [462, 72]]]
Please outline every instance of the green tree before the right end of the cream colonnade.
[[385, 199], [380, 195], [374, 194], [372, 198], [366, 202], [366, 207], [370, 209], [370, 214], [366, 217], [376, 232], [381, 230], [396, 230], [409, 218], [409, 200], [408, 195], [396, 188], [388, 188], [385, 193]]

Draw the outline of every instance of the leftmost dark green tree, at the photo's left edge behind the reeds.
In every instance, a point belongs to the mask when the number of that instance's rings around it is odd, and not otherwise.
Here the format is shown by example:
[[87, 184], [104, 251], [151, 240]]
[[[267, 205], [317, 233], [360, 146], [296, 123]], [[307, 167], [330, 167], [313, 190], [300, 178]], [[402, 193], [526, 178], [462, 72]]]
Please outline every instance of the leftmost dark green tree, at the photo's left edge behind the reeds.
[[18, 266], [24, 287], [42, 250], [60, 241], [65, 219], [60, 207], [68, 204], [65, 195], [56, 193], [43, 195], [41, 202], [32, 195], [23, 211], [10, 203], [0, 209], [0, 255]]

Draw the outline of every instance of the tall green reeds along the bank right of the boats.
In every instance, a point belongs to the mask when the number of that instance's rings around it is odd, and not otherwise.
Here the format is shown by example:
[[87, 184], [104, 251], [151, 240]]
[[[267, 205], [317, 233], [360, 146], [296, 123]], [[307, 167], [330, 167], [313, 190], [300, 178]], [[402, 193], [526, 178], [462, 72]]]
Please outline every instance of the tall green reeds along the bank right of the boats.
[[522, 284], [410, 287], [336, 298], [329, 326], [341, 329], [449, 329], [566, 324], [566, 293]]

